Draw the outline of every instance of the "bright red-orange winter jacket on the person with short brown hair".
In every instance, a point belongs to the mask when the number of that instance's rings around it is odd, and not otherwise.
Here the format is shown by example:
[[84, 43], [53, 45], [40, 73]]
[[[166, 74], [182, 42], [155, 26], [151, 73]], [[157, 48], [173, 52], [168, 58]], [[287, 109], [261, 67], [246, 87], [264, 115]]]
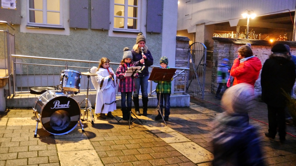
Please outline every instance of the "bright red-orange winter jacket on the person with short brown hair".
[[234, 77], [233, 85], [248, 83], [254, 86], [261, 68], [262, 64], [258, 57], [252, 57], [241, 63], [239, 58], [236, 58], [230, 70], [230, 75]]

